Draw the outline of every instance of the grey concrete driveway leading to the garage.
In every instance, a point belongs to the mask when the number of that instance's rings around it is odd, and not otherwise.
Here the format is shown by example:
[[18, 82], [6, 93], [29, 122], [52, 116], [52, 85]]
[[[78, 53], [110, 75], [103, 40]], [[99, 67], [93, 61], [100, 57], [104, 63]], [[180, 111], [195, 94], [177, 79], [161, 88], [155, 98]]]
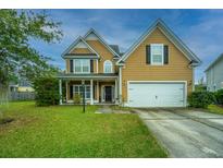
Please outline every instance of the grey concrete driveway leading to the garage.
[[135, 111], [170, 157], [223, 157], [223, 116], [182, 109]]

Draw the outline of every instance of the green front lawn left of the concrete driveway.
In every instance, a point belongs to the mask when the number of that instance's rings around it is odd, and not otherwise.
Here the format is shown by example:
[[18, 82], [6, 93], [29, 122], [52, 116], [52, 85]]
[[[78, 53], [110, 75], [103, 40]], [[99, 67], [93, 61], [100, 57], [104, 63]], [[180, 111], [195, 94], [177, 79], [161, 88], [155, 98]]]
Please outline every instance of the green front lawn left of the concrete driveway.
[[82, 112], [79, 106], [35, 107], [32, 101], [0, 107], [0, 157], [166, 157], [136, 115]]

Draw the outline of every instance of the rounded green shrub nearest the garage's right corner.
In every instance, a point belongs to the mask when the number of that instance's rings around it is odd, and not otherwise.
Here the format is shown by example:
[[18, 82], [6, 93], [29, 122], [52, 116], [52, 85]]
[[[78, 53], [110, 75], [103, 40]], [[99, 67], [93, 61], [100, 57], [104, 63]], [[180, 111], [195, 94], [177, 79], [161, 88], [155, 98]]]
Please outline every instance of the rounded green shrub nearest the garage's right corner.
[[210, 104], [215, 103], [215, 96], [211, 92], [194, 92], [188, 96], [190, 107], [208, 108]]

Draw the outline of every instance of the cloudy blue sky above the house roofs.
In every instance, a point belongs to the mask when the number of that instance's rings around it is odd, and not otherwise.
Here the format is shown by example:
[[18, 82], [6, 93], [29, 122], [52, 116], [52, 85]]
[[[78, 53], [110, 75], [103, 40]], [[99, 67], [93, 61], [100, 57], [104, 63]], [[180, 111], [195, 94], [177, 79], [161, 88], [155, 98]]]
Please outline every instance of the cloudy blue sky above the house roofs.
[[157, 20], [166, 25], [202, 60], [196, 81], [203, 70], [223, 52], [223, 10], [47, 10], [62, 22], [64, 37], [60, 44], [32, 41], [52, 64], [65, 68], [61, 53], [79, 35], [95, 28], [109, 44], [126, 49]]

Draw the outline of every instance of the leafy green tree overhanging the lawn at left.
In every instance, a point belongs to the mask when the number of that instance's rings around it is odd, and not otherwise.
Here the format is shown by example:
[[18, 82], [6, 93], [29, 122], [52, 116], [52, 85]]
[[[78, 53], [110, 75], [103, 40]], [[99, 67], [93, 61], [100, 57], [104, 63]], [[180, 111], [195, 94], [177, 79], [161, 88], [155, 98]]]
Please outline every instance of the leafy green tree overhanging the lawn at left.
[[17, 76], [33, 81], [57, 71], [48, 64], [49, 57], [30, 46], [30, 39], [60, 41], [60, 25], [46, 11], [0, 10], [0, 89], [8, 89], [9, 82]]

